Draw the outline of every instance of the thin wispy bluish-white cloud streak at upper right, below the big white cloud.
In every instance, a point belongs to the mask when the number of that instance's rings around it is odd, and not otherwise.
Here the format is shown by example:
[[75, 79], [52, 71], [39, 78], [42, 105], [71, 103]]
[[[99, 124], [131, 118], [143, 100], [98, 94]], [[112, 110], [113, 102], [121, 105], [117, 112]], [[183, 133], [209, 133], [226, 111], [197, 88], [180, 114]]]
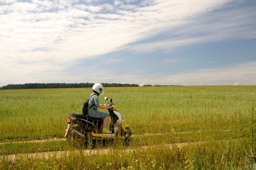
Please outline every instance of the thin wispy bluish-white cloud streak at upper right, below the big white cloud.
[[[173, 51], [176, 48], [227, 39], [256, 38], [256, 7], [238, 9], [226, 13], [182, 19], [172, 32], [164, 32], [165, 38], [147, 43], [131, 45], [137, 52], [157, 50]], [[159, 34], [161, 35], [161, 34]]]

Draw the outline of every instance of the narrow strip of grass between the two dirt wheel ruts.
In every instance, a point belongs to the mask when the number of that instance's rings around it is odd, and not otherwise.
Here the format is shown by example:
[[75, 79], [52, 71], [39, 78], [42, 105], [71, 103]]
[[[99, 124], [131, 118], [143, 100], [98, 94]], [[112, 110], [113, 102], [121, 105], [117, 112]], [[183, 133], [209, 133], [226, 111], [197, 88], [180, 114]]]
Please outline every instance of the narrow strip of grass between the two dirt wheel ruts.
[[[191, 134], [193, 138], [191, 138]], [[114, 148], [122, 149], [160, 145], [160, 144], [172, 144], [183, 142], [203, 142], [211, 140], [232, 140], [238, 139], [238, 133], [236, 131], [222, 131], [222, 132], [188, 132], [188, 133], [166, 133], [158, 135], [140, 135], [133, 136], [129, 143], [123, 145], [123, 139], [98, 139], [94, 141], [93, 149], [101, 148]], [[74, 148], [78, 149], [78, 148]], [[85, 146], [85, 149], [92, 149], [91, 146]], [[11, 142], [0, 144], [0, 155], [6, 154], [18, 154], [18, 153], [38, 153], [38, 152], [51, 152], [51, 151], [68, 151], [70, 146], [66, 140], [51, 140], [51, 141], [36, 141], [36, 142]]]

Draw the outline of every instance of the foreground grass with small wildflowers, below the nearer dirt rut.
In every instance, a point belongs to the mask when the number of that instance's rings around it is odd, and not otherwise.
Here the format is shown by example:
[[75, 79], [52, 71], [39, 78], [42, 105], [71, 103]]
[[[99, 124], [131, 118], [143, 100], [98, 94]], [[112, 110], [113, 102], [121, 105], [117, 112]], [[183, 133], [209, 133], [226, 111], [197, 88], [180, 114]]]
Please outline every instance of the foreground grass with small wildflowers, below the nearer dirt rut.
[[206, 142], [184, 147], [152, 146], [148, 149], [110, 150], [106, 154], [85, 155], [70, 152], [61, 157], [26, 159], [14, 161], [2, 159], [0, 169], [37, 170], [193, 170], [193, 169], [244, 169], [256, 168], [254, 154], [238, 141]]

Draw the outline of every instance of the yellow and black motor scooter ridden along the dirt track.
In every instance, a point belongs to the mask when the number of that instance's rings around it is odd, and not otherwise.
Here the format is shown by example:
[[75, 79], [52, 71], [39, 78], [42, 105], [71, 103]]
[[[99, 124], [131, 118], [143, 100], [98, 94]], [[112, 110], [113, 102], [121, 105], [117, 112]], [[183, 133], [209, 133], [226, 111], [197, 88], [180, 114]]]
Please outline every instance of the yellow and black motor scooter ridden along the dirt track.
[[[106, 101], [107, 97], [104, 98]], [[65, 137], [70, 145], [85, 145], [91, 139], [95, 138], [120, 138], [129, 139], [132, 131], [127, 124], [124, 124], [122, 115], [116, 110], [116, 105], [110, 99], [106, 106], [110, 115], [109, 130], [111, 134], [102, 133], [102, 118], [92, 118], [84, 114], [68, 113], [68, 127]]]

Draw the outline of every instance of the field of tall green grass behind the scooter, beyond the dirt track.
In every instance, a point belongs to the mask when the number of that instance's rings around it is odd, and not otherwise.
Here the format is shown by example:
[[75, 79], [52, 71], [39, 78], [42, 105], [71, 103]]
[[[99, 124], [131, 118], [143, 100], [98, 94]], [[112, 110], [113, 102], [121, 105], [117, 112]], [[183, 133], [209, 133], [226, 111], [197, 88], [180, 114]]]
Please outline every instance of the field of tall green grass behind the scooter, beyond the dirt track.
[[[90, 92], [89, 88], [0, 90], [0, 140], [62, 137], [67, 113], [81, 113]], [[246, 128], [252, 92], [255, 86], [105, 89], [135, 134]]]

